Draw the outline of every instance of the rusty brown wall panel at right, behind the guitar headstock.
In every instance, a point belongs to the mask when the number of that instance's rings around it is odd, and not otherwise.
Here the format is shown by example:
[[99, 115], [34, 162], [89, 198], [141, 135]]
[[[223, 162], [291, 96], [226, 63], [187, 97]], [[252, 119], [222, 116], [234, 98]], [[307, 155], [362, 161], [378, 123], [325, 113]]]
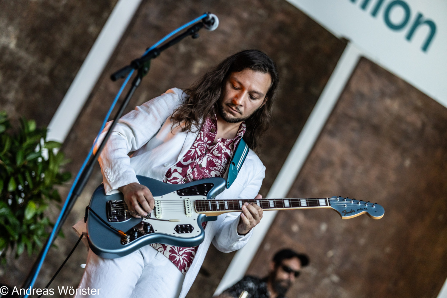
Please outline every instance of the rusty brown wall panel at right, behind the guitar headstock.
[[447, 277], [447, 109], [361, 59], [289, 197], [342, 195], [382, 219], [279, 212], [249, 274], [283, 247], [310, 256], [289, 297], [435, 298]]

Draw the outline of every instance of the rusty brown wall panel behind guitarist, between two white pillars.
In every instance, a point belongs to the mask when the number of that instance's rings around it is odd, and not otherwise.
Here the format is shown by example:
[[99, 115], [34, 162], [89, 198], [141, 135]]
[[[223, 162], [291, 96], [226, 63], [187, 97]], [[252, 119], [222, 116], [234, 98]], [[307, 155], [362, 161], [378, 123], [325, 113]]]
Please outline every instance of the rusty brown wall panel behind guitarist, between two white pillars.
[[[171, 30], [205, 11], [219, 17], [219, 28], [213, 32], [202, 30], [200, 38], [186, 38], [154, 59], [128, 110], [168, 88], [186, 88], [204, 71], [239, 50], [256, 48], [265, 51], [278, 64], [281, 79], [273, 127], [265, 138], [260, 155], [268, 169], [261, 189], [266, 195], [346, 46], [346, 41], [335, 38], [284, 0], [143, 1], [64, 143], [63, 149], [72, 159], [69, 164], [72, 172], [76, 173], [80, 168], [121, 85], [121, 82], [110, 81], [110, 73], [139, 57], [146, 47]], [[93, 189], [101, 181], [100, 172], [94, 172], [63, 227], [66, 239], [57, 240], [60, 249], [52, 250], [44, 264], [42, 276], [46, 279], [40, 279], [40, 285], [51, 277], [76, 242], [71, 226], [82, 218]], [[189, 297], [211, 297], [232, 256], [232, 253], [223, 254], [211, 246]], [[85, 248], [78, 248], [55, 280], [54, 287], [77, 286], [83, 272], [79, 265], [85, 258]], [[31, 260], [23, 258], [20, 261]], [[17, 264], [10, 264], [9, 268], [15, 270], [15, 280], [25, 277], [25, 268]], [[7, 276], [1, 277], [0, 282], [2, 280], [9, 284], [14, 281]]]

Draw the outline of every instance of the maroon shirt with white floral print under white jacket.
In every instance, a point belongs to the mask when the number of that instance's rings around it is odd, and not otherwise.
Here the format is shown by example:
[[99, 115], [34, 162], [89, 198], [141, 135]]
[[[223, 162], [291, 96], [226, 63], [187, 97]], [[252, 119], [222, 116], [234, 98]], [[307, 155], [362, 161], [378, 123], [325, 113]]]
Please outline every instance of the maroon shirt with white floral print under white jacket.
[[[234, 148], [244, 133], [245, 122], [242, 122], [236, 138], [219, 138], [213, 144], [217, 134], [217, 122], [215, 117], [207, 117], [193, 145], [183, 158], [166, 172], [164, 182], [183, 184], [204, 178], [222, 177], [227, 170]], [[202, 227], [205, 228], [205, 226], [206, 222], [203, 222]], [[183, 274], [186, 274], [190, 268], [198, 249], [198, 246], [183, 248], [161, 243], [153, 243], [151, 246], [163, 253]]]

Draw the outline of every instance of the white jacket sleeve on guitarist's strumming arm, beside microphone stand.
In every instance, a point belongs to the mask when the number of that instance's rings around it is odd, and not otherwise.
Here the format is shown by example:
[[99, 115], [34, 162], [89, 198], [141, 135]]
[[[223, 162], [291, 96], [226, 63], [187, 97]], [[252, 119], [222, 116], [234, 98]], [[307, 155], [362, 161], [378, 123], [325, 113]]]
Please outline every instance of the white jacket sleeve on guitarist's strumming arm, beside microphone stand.
[[[128, 153], [142, 147], [160, 130], [173, 110], [181, 104], [181, 92], [180, 89], [169, 89], [118, 120], [98, 159], [107, 195], [117, 193], [119, 187], [131, 182], [138, 183]], [[99, 135], [95, 151], [111, 124], [108, 122]]]

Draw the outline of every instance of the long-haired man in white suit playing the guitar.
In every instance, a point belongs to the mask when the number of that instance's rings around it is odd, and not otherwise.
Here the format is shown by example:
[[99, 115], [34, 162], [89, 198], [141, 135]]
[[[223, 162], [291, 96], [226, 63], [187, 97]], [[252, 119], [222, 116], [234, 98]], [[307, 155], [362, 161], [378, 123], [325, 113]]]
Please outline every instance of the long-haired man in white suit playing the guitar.
[[[257, 193], [265, 167], [254, 151], [269, 126], [277, 86], [274, 62], [261, 51], [245, 50], [224, 59], [190, 88], [169, 89], [136, 107], [119, 120], [98, 159], [105, 193], [122, 192], [130, 211], [147, 216], [154, 198], [136, 175], [174, 184], [226, 178], [243, 137], [249, 153], [234, 183], [217, 198], [261, 198]], [[79, 287], [100, 288], [101, 297], [108, 298], [183, 298], [210, 243], [222, 252], [242, 248], [261, 218], [259, 206], [244, 203], [241, 213], [206, 222], [205, 239], [196, 247], [154, 243], [116, 259], [90, 250]]]

